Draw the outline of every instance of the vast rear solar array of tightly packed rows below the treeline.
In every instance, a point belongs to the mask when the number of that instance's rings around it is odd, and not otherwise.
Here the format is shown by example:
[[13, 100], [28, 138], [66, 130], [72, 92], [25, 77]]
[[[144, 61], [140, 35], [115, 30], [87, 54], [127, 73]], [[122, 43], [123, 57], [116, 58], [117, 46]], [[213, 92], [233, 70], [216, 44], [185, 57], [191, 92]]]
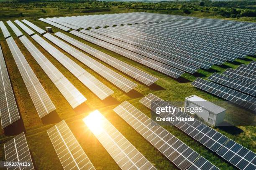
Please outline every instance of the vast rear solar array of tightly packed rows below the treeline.
[[[91, 30], [129, 43], [125, 44], [126, 47], [146, 57], [154, 57], [161, 62], [168, 62], [169, 57], [169, 63], [174, 67], [182, 62], [208, 69], [213, 64], [222, 65], [225, 61], [254, 55], [256, 51], [256, 34], [253, 32], [255, 23], [149, 13], [72, 16], [47, 20], [84, 29], [110, 26]], [[124, 26], [119, 26], [121, 24]], [[193, 70], [189, 71], [193, 73]]]

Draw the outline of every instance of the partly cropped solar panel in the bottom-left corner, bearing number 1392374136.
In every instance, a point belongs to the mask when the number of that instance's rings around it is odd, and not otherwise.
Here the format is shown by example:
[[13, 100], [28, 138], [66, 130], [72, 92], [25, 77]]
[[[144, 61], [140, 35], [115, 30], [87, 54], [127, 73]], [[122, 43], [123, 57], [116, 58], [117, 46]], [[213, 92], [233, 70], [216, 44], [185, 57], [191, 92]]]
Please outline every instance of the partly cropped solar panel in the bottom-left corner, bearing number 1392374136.
[[11, 170], [34, 170], [24, 132], [4, 144], [6, 163], [24, 163], [27, 166], [8, 166]]

